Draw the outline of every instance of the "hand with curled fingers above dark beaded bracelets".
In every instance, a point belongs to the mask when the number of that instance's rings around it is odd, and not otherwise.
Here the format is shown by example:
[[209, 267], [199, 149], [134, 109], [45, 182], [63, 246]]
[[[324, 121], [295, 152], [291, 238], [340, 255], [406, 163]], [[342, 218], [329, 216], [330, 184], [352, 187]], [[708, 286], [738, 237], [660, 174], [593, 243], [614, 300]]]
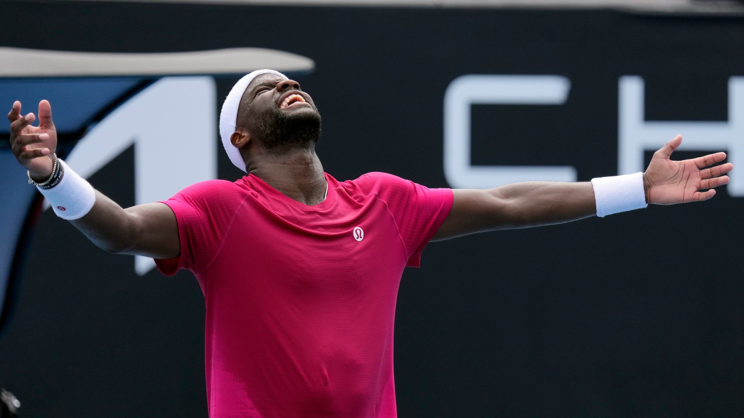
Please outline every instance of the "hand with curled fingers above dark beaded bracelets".
[[49, 102], [39, 102], [39, 126], [31, 126], [36, 120], [33, 113], [21, 116], [21, 102], [17, 100], [7, 119], [10, 120], [10, 149], [13, 155], [31, 173], [32, 179], [48, 179], [53, 168], [51, 155], [57, 150], [57, 129], [54, 129], [51, 120]]

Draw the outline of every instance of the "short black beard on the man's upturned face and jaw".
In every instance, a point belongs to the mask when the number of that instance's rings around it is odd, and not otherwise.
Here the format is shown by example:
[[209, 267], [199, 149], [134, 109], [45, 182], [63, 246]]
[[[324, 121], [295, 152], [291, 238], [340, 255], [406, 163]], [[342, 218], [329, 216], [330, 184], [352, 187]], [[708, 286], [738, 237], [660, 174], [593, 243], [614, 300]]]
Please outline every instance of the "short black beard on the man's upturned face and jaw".
[[273, 152], [309, 147], [321, 137], [321, 114], [312, 110], [292, 114], [271, 109], [263, 117], [251, 118], [248, 132]]

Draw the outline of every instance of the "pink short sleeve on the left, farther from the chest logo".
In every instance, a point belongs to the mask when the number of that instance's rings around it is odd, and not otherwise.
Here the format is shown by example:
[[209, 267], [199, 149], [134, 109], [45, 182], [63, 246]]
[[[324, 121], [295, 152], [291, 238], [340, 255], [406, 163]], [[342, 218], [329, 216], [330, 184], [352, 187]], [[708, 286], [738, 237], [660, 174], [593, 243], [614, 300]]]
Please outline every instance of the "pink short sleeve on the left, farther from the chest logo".
[[229, 181], [201, 181], [161, 202], [176, 215], [181, 243], [179, 257], [155, 259], [161, 273], [172, 276], [179, 269], [196, 273], [211, 262], [234, 213], [228, 205], [234, 200], [229, 199], [231, 187], [234, 184]]

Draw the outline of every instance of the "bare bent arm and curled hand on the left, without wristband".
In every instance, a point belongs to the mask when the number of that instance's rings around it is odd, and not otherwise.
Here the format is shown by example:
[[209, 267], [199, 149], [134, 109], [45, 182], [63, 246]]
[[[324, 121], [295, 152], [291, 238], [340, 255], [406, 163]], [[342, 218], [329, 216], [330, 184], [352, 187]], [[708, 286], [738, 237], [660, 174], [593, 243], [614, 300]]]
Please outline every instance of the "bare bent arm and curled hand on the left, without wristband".
[[[10, 147], [19, 164], [39, 183], [52, 175], [51, 156], [57, 149], [57, 131], [51, 120], [47, 100], [39, 103], [39, 126], [31, 126], [33, 113], [21, 116], [21, 103], [13, 103], [10, 120]], [[70, 221], [77, 229], [106, 251], [169, 259], [180, 254], [179, 229], [173, 210], [163, 203], [121, 208], [103, 193], [95, 191], [93, 207], [84, 216]]]

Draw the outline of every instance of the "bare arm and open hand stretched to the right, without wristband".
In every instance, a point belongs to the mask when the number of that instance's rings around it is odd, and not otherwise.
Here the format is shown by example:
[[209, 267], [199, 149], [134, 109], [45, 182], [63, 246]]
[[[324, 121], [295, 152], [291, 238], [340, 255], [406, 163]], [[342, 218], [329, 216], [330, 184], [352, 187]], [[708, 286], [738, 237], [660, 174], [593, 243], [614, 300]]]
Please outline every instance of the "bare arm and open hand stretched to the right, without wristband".
[[[656, 205], [711, 199], [713, 187], [728, 183], [734, 166], [722, 164], [724, 152], [684, 161], [672, 161], [682, 135], [656, 151], [644, 173], [646, 202]], [[711, 189], [705, 192], [699, 190]], [[452, 190], [455, 202], [434, 239], [447, 239], [481, 231], [529, 228], [586, 218], [597, 213], [594, 187], [586, 183], [525, 181], [487, 190]]]

